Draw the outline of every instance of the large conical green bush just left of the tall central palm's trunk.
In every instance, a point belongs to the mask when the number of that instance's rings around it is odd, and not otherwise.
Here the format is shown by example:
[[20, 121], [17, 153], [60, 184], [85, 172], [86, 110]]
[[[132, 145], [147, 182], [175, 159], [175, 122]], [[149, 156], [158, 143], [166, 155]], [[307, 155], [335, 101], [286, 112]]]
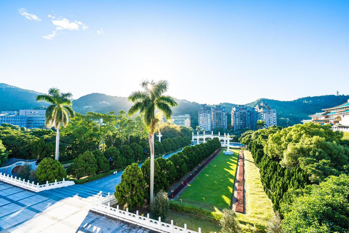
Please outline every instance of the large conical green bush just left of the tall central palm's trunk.
[[130, 208], [144, 204], [147, 197], [146, 181], [138, 163], [125, 168], [120, 183], [115, 187], [114, 196], [119, 203], [127, 203]]

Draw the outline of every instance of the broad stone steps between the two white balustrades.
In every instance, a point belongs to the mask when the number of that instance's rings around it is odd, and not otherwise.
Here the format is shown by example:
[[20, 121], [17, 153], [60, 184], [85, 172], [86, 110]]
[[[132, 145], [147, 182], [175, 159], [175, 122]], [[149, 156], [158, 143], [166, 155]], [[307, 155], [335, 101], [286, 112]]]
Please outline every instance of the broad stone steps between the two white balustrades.
[[[70, 185], [58, 189], [45, 190], [41, 191], [39, 194], [51, 199], [73, 197], [88, 203], [91, 203], [93, 198], [95, 200], [97, 198], [99, 199], [100, 195], [102, 195], [103, 197], [108, 196], [107, 192], [96, 190], [90, 187], [81, 187], [79, 184]], [[110, 195], [114, 194], [111, 193]]]

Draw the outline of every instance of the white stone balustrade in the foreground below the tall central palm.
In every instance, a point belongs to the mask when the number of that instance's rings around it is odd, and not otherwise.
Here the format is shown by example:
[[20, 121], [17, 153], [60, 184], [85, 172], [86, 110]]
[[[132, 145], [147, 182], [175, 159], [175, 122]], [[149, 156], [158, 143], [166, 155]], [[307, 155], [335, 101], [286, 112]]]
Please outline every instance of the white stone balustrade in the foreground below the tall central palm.
[[[110, 198], [110, 195], [104, 198]], [[184, 228], [175, 226], [173, 225], [173, 220], [171, 220], [171, 224], [169, 224], [162, 222], [160, 217], [158, 220], [151, 219], [149, 218], [149, 213], [147, 214], [147, 217], [144, 217], [139, 215], [138, 211], [136, 213], [128, 212], [128, 208], [126, 208], [126, 211], [120, 210], [119, 205], [117, 205], [116, 208], [110, 207], [110, 202], [108, 202], [107, 205], [101, 203], [102, 199], [104, 200], [104, 198], [101, 197], [100, 201], [97, 202], [92, 199], [90, 209], [92, 211], [96, 211], [98, 213], [102, 213], [104, 215], [117, 218], [128, 223], [136, 224], [156, 232], [201, 233], [201, 228], [199, 228], [199, 231], [196, 232], [188, 230], [186, 224], [184, 224]]]

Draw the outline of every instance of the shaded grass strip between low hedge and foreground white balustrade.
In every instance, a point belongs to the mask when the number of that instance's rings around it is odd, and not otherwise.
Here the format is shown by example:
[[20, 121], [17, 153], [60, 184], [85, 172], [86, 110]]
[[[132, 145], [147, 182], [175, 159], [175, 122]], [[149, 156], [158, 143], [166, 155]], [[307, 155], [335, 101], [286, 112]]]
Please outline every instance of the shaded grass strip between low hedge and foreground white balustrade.
[[173, 220], [174, 225], [179, 227], [184, 227], [184, 224], [187, 224], [187, 229], [192, 231], [198, 231], [199, 227], [201, 228], [202, 233], [218, 233], [221, 230], [218, 221], [202, 218], [200, 216], [191, 215], [188, 213], [170, 211], [165, 222], [171, 223], [171, 220]]

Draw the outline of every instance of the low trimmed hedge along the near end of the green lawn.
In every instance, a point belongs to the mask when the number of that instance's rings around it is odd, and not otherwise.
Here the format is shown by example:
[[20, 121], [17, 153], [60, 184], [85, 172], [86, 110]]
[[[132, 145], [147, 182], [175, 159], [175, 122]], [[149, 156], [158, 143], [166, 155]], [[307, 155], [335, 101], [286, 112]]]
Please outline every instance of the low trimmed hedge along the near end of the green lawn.
[[213, 218], [217, 221], [222, 218], [222, 214], [212, 212], [212, 211], [210, 211], [208, 209], [204, 209], [200, 206], [176, 202], [176, 201], [169, 201], [169, 203], [170, 203], [170, 209], [176, 210], [178, 212], [194, 213], [198, 216]]

